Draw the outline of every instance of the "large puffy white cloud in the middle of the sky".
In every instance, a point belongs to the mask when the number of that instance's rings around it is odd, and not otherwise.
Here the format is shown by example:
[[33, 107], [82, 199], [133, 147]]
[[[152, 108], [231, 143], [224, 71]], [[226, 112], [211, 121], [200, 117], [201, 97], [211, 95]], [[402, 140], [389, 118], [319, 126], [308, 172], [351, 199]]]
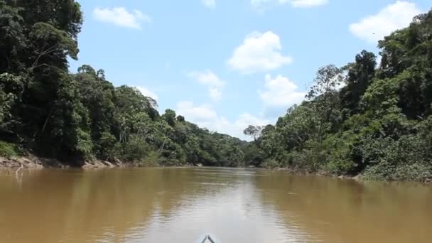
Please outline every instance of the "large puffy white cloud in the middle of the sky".
[[242, 45], [234, 50], [228, 65], [241, 72], [274, 70], [293, 62], [293, 58], [281, 54], [279, 36], [267, 31], [254, 32], [244, 38]]

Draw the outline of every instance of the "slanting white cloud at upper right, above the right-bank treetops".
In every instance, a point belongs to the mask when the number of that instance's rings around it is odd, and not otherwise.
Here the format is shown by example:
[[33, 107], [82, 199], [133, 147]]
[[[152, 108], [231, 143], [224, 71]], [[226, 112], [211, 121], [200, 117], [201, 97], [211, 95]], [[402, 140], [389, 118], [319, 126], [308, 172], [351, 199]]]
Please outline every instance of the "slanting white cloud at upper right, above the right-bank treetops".
[[409, 26], [414, 16], [421, 13], [416, 4], [409, 1], [396, 1], [379, 13], [367, 16], [350, 25], [352, 34], [369, 43], [377, 43], [397, 29]]

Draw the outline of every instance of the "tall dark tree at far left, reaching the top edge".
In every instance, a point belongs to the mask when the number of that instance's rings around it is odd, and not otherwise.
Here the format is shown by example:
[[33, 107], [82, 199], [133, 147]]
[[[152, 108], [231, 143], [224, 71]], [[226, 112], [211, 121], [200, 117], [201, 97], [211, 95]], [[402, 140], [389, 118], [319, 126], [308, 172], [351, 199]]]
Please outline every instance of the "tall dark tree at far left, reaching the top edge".
[[[46, 14], [40, 14], [41, 8]], [[75, 84], [68, 77], [67, 59], [77, 56], [82, 23], [79, 5], [75, 1], [0, 1], [0, 21], [0, 72], [8, 72], [22, 84], [17, 93], [11, 94], [6, 86], [3, 90], [15, 100], [12, 120], [16, 122], [9, 126], [11, 132], [50, 155], [59, 150], [87, 150], [81, 143], [85, 136], [74, 124], [86, 115], [73, 95]], [[72, 124], [65, 126], [66, 120]]]

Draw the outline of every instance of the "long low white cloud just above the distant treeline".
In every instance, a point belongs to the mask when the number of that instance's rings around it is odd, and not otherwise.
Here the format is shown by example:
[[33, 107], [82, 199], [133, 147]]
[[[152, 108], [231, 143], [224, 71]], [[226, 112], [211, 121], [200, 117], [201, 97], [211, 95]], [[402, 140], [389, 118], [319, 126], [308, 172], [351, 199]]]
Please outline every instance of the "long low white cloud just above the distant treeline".
[[244, 113], [239, 115], [237, 120], [229, 121], [225, 117], [220, 117], [208, 104], [195, 105], [193, 102], [179, 102], [176, 113], [185, 117], [201, 128], [217, 131], [222, 134], [229, 134], [239, 139], [250, 140], [244, 136], [243, 130], [249, 125], [265, 126], [270, 124], [269, 120], [254, 117], [252, 114]]

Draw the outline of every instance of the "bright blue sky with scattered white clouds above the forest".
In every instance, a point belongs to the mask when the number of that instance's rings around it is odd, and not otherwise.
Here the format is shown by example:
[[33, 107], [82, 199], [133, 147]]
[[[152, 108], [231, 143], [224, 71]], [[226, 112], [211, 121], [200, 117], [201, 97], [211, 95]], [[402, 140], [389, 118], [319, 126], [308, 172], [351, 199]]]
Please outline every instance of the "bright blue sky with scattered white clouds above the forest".
[[[79, 0], [78, 0], [79, 1]], [[300, 103], [318, 68], [431, 9], [430, 0], [82, 0], [80, 65], [210, 131], [247, 139]]]

